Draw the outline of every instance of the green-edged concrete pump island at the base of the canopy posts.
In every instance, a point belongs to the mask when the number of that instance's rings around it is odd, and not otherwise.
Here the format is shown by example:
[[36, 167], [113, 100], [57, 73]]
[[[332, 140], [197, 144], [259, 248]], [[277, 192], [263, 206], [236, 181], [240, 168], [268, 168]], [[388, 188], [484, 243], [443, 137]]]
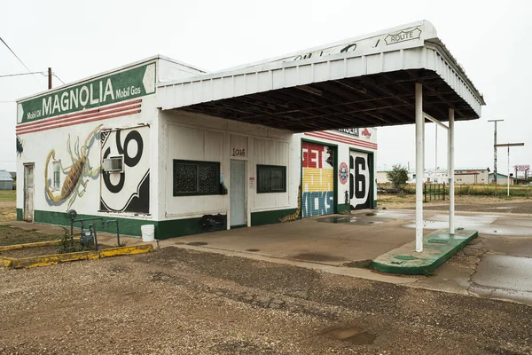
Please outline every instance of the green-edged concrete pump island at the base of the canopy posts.
[[372, 268], [402, 275], [426, 275], [434, 272], [477, 236], [478, 232], [473, 230], [457, 230], [453, 235], [448, 230], [438, 230], [423, 237], [423, 252], [417, 253], [416, 241], [410, 241], [374, 258]]

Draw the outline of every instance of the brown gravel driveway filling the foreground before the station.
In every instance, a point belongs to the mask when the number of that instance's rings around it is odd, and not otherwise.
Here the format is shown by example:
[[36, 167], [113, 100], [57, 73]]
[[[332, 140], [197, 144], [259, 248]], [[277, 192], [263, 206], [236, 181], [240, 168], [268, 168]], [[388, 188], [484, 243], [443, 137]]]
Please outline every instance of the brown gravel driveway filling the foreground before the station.
[[532, 307], [180, 248], [0, 269], [0, 353], [530, 354]]

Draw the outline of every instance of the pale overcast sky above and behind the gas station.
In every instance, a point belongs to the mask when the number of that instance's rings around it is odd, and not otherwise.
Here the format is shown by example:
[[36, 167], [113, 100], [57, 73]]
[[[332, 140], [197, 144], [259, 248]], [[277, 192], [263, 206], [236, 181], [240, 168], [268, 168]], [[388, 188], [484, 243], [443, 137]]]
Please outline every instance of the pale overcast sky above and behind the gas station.
[[[532, 162], [529, 118], [532, 2], [495, 1], [8, 1], [0, 36], [32, 71], [52, 67], [65, 83], [154, 54], [207, 71], [234, 67], [415, 20], [430, 20], [484, 95], [480, 120], [456, 124], [456, 166], [493, 168], [493, 123], [510, 163]], [[27, 72], [0, 43], [0, 75]], [[15, 170], [16, 104], [46, 89], [43, 75], [0, 78], [0, 169]], [[54, 86], [60, 83], [54, 78]], [[438, 130], [438, 166], [446, 163]], [[414, 168], [412, 125], [379, 129], [379, 168]], [[22, 138], [24, 139], [24, 138]], [[434, 167], [434, 124], [426, 127], [426, 168]], [[500, 148], [498, 169], [507, 168]]]

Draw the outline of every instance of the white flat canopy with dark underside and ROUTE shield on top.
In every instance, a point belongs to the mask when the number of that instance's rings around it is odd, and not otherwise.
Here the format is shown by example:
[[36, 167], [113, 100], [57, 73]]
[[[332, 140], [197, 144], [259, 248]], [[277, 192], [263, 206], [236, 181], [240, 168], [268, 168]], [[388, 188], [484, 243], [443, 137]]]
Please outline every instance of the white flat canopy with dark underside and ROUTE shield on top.
[[481, 93], [426, 20], [160, 83], [157, 97], [163, 110], [302, 132], [414, 123], [415, 83], [423, 84], [426, 114], [481, 116]]

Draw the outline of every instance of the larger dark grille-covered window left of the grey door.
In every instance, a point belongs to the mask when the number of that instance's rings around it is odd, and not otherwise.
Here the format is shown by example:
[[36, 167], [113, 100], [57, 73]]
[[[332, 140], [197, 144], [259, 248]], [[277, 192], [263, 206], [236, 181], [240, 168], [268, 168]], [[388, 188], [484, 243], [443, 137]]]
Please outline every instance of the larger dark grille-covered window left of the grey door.
[[220, 162], [174, 160], [174, 196], [220, 193]]

